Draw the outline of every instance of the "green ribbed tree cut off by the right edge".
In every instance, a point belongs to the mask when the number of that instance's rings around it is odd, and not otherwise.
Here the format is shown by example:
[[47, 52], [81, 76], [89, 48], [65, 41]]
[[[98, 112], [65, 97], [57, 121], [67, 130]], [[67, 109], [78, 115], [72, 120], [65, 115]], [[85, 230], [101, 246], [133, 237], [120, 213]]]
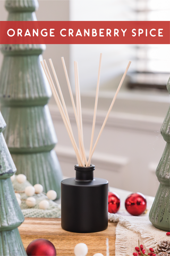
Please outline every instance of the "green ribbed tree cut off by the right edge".
[[[167, 83], [167, 90], [170, 94], [170, 78]], [[170, 107], [160, 133], [167, 143], [156, 169], [160, 185], [149, 213], [149, 220], [156, 228], [170, 231]]]

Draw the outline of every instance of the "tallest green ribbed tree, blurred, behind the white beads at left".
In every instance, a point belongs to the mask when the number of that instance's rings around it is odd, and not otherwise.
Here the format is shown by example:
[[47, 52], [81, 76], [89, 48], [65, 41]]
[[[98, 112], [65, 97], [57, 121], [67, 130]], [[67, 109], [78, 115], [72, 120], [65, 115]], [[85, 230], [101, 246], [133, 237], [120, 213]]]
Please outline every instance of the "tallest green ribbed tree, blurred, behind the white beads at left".
[[[36, 20], [36, 0], [5, 2], [8, 20]], [[61, 167], [53, 150], [57, 138], [47, 103], [49, 84], [40, 65], [45, 45], [2, 45], [1, 110], [7, 124], [4, 137], [17, 168], [28, 181], [53, 189], [60, 198]]]

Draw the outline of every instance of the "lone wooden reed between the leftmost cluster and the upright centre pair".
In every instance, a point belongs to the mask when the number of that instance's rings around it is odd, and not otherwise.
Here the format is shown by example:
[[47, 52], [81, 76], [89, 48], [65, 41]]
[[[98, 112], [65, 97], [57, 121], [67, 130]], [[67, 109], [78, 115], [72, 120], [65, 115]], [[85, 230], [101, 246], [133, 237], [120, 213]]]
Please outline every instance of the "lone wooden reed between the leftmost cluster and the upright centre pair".
[[80, 125], [79, 125], [78, 115], [77, 115], [77, 111], [76, 111], [76, 108], [75, 108], [75, 103], [74, 103], [73, 93], [72, 93], [72, 90], [71, 90], [71, 85], [70, 85], [70, 81], [69, 81], [69, 76], [68, 76], [68, 74], [67, 74], [67, 69], [66, 69], [65, 61], [64, 61], [64, 58], [63, 58], [63, 57], [62, 57], [62, 63], [63, 63], [64, 73], [65, 73], [65, 77], [66, 77], [66, 81], [67, 81], [67, 85], [68, 85], [69, 93], [70, 93], [70, 97], [71, 97], [71, 102], [72, 102], [72, 106], [73, 106], [73, 110], [74, 110], [75, 121], [76, 121], [77, 126], [78, 126], [78, 133], [79, 133], [79, 136], [80, 136], [80, 142], [81, 142], [81, 146], [82, 146], [83, 156], [84, 156], [85, 163], [86, 163], [86, 165], [87, 165], [87, 158], [86, 158], [86, 153], [85, 153], [85, 149], [84, 149], [84, 144], [83, 144], [83, 140], [82, 140], [82, 136], [81, 136], [81, 131], [80, 131]]

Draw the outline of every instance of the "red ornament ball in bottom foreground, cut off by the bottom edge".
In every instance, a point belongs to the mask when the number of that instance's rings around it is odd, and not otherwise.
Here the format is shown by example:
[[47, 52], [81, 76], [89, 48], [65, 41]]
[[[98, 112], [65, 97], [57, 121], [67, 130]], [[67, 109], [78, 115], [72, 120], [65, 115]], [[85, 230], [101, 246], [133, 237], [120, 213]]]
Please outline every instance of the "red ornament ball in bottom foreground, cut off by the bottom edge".
[[27, 247], [27, 255], [32, 256], [56, 256], [54, 245], [47, 239], [35, 239]]

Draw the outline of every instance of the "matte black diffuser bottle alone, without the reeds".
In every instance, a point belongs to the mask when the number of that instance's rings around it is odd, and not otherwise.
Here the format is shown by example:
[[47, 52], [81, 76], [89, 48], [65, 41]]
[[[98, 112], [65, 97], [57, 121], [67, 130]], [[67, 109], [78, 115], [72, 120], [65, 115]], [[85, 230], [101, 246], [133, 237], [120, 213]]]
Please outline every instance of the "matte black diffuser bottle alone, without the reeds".
[[61, 225], [75, 233], [102, 231], [108, 225], [108, 181], [94, 178], [95, 165], [74, 166], [75, 178], [61, 182]]

